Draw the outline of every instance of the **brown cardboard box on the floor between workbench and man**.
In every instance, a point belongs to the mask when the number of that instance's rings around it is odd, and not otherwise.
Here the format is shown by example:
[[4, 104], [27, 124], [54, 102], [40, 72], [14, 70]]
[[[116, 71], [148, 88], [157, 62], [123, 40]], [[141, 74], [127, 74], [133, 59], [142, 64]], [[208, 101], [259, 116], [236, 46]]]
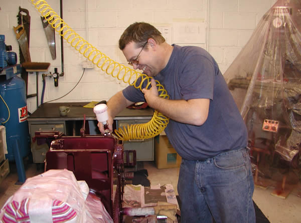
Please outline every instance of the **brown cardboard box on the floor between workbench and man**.
[[166, 135], [155, 137], [155, 162], [158, 169], [180, 167], [181, 160]]

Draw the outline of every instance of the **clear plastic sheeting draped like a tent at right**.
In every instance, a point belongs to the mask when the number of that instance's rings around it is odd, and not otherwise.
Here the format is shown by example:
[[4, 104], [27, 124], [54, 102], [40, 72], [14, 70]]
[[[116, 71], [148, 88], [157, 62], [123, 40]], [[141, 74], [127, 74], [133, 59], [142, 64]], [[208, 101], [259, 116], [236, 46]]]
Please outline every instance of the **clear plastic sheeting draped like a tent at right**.
[[298, 182], [301, 0], [277, 1], [224, 77], [248, 129], [256, 174]]

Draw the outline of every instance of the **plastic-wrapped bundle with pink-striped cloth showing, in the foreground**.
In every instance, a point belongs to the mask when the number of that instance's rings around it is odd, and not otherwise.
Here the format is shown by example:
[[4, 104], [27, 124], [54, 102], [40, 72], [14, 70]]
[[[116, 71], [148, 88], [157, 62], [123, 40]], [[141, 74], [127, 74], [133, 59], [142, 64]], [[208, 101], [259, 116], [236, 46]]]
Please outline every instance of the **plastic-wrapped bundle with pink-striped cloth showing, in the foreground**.
[[[73, 172], [48, 170], [26, 180], [6, 202], [0, 219], [31, 223], [113, 222], [100, 199], [88, 193], [86, 182], [77, 181]], [[99, 212], [91, 211], [96, 206]]]

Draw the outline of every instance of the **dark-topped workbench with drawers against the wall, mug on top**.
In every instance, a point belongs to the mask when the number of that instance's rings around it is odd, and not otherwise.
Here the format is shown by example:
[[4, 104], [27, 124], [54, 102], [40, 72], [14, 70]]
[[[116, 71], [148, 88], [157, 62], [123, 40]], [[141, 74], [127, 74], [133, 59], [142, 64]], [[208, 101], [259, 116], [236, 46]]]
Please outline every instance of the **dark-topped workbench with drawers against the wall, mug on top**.
[[[83, 126], [84, 115], [86, 116], [85, 126], [88, 132], [100, 134], [97, 125], [96, 115], [93, 108], [84, 108], [89, 102], [65, 102], [65, 103], [44, 103], [29, 118], [29, 130], [31, 140], [35, 136], [36, 131], [60, 131], [67, 136], [80, 135], [80, 129]], [[60, 106], [70, 107], [70, 112], [66, 116], [61, 116], [59, 112]], [[154, 111], [151, 108], [146, 109], [124, 109], [114, 118], [113, 128], [120, 128], [127, 124], [139, 124], [148, 122], [152, 119]], [[89, 129], [88, 129], [89, 128]], [[154, 160], [154, 138], [145, 140], [125, 141], [124, 150], [136, 150], [137, 161]], [[32, 141], [31, 150], [35, 163], [44, 163], [46, 152], [49, 147], [45, 145], [37, 145]]]

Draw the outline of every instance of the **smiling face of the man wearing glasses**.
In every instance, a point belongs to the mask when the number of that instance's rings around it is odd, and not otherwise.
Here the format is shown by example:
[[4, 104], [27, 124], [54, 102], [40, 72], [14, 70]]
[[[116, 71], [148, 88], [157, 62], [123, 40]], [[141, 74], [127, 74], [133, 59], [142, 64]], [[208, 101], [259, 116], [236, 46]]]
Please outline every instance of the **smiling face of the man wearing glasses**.
[[[142, 47], [136, 48], [136, 44], [134, 42], [131, 42], [125, 46], [125, 48], [122, 50], [122, 53], [124, 54], [125, 59], [128, 62], [132, 62], [134, 70], [139, 69], [142, 71], [143, 74], [146, 74], [149, 77], [156, 76], [159, 73], [159, 71], [158, 68], [156, 68], [156, 66], [153, 66], [154, 52], [152, 48], [149, 47], [149, 45], [147, 44], [144, 47], [144, 49], [142, 51], [141, 50]], [[133, 60], [137, 60], [138, 63], [134, 63], [135, 61]]]

